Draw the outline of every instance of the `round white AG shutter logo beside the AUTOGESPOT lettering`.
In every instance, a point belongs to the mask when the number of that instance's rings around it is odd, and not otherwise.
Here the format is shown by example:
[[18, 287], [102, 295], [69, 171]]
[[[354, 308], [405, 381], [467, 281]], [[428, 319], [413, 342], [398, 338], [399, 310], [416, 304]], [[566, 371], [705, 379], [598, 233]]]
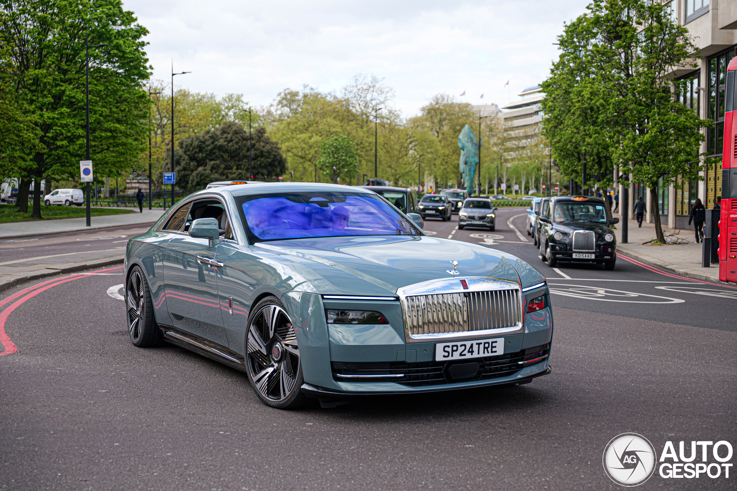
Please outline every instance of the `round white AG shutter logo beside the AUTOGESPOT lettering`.
[[612, 438], [604, 448], [604, 471], [622, 486], [643, 484], [655, 471], [657, 455], [652, 443], [642, 435], [623, 433]]

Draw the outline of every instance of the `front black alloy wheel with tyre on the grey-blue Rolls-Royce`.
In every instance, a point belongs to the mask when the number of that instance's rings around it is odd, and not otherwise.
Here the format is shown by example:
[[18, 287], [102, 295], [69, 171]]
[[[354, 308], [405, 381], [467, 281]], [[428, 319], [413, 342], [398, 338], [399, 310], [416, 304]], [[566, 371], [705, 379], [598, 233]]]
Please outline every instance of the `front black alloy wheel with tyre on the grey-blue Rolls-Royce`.
[[245, 368], [259, 399], [277, 409], [304, 403], [297, 336], [284, 305], [276, 297], [261, 300], [248, 319]]

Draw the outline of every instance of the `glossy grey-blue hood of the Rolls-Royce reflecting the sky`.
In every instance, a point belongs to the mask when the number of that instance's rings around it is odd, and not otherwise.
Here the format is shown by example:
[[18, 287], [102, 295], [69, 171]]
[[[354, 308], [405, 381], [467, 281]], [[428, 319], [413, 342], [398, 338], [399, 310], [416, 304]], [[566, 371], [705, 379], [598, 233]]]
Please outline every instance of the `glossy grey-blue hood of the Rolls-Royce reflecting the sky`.
[[[326, 237], [268, 241], [253, 250], [290, 261], [321, 294], [394, 295], [397, 289], [437, 278], [484, 276], [523, 286], [545, 278], [525, 261], [478, 244], [427, 236]], [[459, 275], [451, 275], [458, 261]]]

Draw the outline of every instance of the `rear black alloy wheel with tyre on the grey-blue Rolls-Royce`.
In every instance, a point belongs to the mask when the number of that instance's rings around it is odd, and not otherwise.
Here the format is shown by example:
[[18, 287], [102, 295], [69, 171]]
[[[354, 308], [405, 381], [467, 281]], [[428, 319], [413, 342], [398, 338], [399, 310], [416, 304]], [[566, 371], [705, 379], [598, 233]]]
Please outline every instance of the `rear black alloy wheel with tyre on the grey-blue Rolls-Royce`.
[[156, 346], [161, 342], [161, 331], [153, 317], [153, 302], [148, 282], [142, 269], [133, 266], [125, 283], [125, 308], [130, 342], [138, 347]]

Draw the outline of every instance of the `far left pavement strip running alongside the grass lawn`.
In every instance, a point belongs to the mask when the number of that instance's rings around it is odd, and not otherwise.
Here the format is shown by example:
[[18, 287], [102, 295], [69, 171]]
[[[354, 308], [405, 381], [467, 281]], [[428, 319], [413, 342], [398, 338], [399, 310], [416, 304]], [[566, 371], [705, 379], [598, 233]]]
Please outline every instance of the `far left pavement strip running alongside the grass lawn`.
[[121, 213], [119, 215], [92, 216], [90, 218], [91, 227], [85, 226], [86, 219], [84, 216], [80, 218], [65, 218], [59, 220], [0, 223], [0, 239], [13, 239], [15, 237], [38, 236], [49, 233], [74, 232], [76, 230], [91, 230], [94, 228], [153, 223], [156, 222], [163, 213], [164, 210], [161, 208], [155, 208], [153, 210], [144, 208], [143, 213]]

